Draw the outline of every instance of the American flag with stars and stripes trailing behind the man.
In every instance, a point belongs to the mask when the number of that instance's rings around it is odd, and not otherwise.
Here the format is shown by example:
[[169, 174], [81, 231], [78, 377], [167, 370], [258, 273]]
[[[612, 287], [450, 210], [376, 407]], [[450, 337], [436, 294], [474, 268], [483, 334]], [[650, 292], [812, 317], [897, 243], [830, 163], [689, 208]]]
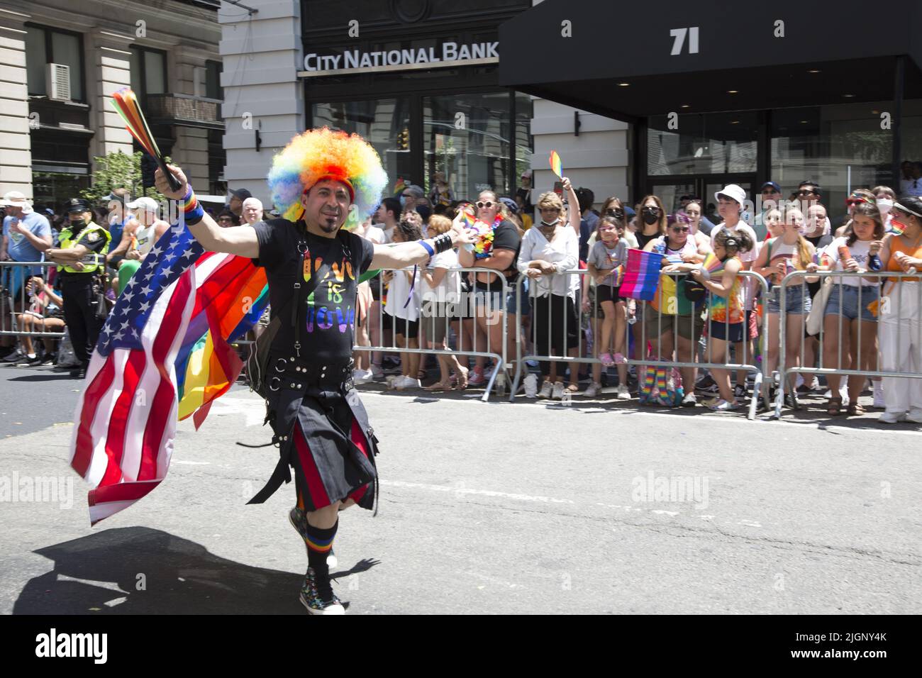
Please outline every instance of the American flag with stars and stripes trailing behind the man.
[[70, 457], [93, 487], [92, 524], [166, 477], [177, 422], [174, 361], [195, 306], [196, 274], [207, 279], [207, 270], [195, 268], [204, 251], [184, 225], [165, 232], [100, 332], [77, 402]]

